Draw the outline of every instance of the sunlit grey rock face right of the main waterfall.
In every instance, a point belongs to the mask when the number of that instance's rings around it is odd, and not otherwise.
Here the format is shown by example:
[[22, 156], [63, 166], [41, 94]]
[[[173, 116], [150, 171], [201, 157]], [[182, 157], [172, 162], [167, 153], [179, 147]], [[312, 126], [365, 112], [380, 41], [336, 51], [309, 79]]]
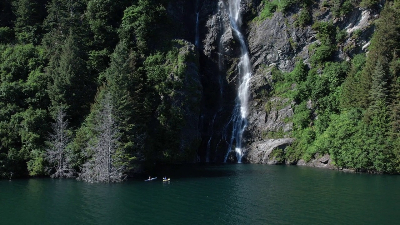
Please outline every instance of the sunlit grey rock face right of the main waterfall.
[[[260, 1], [247, 0], [246, 3], [248, 7], [244, 7], [243, 13], [247, 15], [245, 17], [248, 20], [251, 20], [252, 17], [249, 16], [251, 11], [260, 12], [261, 10]], [[317, 4], [312, 8], [314, 21], [331, 20], [335, 27], [338, 26], [348, 32], [348, 38], [338, 44], [338, 51], [334, 53], [335, 60], [349, 60], [352, 55], [366, 51], [366, 46], [374, 31], [372, 21], [377, 18], [377, 12], [356, 8], [345, 17], [334, 18], [328, 8], [320, 6], [321, 2]], [[272, 81], [270, 69], [276, 66], [281, 71], [290, 72], [294, 68], [296, 57], [302, 58], [303, 62], [308, 64], [312, 54], [308, 51], [308, 47], [319, 41], [311, 25], [295, 26], [294, 14], [298, 13], [299, 8], [294, 6], [290, 10], [286, 15], [275, 12], [272, 18], [262, 22], [247, 21], [243, 24], [247, 28], [248, 47], [253, 65], [250, 111], [246, 131], [246, 160], [250, 163], [282, 163], [274, 160], [269, 154], [274, 148], [290, 145], [294, 141], [290, 138], [293, 125], [291, 122], [285, 122], [290, 121], [285, 118], [294, 115], [292, 107], [296, 103], [278, 96], [269, 96]], [[353, 33], [356, 31], [361, 34], [354, 38]], [[266, 137], [268, 132], [278, 131], [284, 133], [283, 137]], [[322, 165], [328, 167], [330, 161], [329, 159], [329, 163], [322, 163]], [[311, 162], [299, 161], [291, 162], [291, 164], [320, 165], [320, 163]]]

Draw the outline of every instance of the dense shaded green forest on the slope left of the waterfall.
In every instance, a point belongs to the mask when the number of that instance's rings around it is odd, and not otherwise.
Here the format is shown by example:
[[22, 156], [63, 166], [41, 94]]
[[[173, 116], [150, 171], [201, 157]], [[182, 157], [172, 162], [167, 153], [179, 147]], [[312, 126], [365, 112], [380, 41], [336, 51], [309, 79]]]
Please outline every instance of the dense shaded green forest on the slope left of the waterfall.
[[71, 177], [84, 168], [80, 178], [96, 182], [101, 158], [110, 176], [98, 181], [113, 182], [144, 160], [193, 160], [176, 137], [200, 101], [182, 94], [199, 89], [183, 85], [198, 56], [173, 40], [183, 34], [171, 26], [169, 2], [2, 1], [0, 177]]

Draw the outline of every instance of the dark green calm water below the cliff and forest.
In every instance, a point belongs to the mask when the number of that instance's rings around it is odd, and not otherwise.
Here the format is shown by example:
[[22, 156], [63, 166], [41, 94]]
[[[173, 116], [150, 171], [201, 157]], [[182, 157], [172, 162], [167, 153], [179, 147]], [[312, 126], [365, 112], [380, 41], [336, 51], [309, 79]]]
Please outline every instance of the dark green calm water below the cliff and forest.
[[252, 164], [175, 165], [148, 173], [158, 179], [0, 180], [0, 224], [400, 223], [396, 175]]

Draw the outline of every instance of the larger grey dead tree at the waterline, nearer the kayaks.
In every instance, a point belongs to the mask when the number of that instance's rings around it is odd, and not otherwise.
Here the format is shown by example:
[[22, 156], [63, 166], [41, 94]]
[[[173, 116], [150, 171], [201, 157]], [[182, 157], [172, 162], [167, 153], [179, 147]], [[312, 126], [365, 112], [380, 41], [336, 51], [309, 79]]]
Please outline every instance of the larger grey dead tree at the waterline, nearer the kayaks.
[[96, 140], [87, 148], [89, 160], [82, 165], [78, 180], [91, 183], [113, 183], [126, 179], [124, 149], [120, 148], [120, 133], [113, 118], [114, 106], [110, 94], [101, 101], [97, 115]]

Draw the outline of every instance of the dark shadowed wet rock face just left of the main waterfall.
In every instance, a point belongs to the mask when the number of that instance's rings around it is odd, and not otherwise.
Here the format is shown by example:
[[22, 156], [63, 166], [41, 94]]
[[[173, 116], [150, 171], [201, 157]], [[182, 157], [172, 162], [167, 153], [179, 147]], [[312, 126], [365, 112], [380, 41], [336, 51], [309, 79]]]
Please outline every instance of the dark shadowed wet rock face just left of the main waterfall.
[[198, 154], [200, 161], [223, 161], [230, 132], [225, 125], [237, 95], [236, 66], [240, 48], [230, 28], [224, 1], [200, 0], [199, 8], [198, 51], [203, 95], [199, 124], [202, 142]]

